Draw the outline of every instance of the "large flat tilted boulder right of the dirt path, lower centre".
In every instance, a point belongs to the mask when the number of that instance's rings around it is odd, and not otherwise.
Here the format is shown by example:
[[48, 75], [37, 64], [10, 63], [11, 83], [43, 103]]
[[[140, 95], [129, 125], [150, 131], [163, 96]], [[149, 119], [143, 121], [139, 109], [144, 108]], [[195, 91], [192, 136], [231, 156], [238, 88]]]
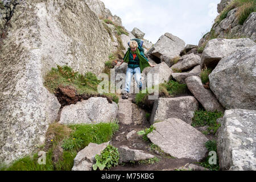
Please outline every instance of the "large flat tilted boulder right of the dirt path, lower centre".
[[208, 141], [204, 134], [188, 123], [177, 118], [169, 118], [153, 125], [155, 130], [148, 134], [150, 141], [175, 158], [200, 161], [207, 155], [204, 144]]

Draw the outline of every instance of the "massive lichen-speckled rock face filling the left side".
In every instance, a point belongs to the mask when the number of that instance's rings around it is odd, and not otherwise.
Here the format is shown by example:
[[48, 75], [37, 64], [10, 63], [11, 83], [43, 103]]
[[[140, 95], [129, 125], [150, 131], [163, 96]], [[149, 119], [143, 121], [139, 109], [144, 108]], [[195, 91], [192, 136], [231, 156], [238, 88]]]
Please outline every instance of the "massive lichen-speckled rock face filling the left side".
[[113, 45], [84, 1], [22, 1], [4, 31], [0, 161], [10, 163], [35, 152], [57, 117], [60, 105], [43, 86], [46, 73], [56, 64], [101, 73]]

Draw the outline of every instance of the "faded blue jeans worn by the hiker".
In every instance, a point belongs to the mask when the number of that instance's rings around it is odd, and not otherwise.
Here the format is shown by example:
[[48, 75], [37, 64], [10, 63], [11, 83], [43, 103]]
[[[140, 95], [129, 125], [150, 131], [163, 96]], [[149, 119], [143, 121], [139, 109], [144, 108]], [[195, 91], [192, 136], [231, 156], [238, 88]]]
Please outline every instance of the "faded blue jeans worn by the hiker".
[[135, 77], [135, 81], [137, 82], [137, 87], [142, 88], [142, 81], [141, 81], [141, 68], [127, 68], [126, 77], [125, 77], [125, 89], [128, 93], [130, 92], [130, 82], [131, 78]]

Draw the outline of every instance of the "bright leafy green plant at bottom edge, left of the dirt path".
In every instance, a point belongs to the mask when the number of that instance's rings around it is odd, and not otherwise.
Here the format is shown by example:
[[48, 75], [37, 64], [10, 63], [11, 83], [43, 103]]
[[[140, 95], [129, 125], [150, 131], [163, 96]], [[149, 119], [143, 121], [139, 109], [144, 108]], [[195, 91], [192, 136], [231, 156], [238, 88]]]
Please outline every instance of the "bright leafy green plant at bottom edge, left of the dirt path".
[[101, 171], [106, 168], [118, 166], [119, 152], [118, 149], [108, 145], [102, 152], [101, 155], [96, 155], [96, 164], [93, 164], [93, 170], [99, 168]]

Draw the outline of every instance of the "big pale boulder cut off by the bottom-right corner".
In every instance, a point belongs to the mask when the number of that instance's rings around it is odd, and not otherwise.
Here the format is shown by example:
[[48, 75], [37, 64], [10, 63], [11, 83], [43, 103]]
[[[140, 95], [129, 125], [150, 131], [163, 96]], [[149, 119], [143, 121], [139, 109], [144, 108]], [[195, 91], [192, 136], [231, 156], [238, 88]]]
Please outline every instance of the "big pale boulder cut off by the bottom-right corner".
[[226, 110], [218, 131], [217, 151], [222, 170], [256, 170], [256, 111]]

